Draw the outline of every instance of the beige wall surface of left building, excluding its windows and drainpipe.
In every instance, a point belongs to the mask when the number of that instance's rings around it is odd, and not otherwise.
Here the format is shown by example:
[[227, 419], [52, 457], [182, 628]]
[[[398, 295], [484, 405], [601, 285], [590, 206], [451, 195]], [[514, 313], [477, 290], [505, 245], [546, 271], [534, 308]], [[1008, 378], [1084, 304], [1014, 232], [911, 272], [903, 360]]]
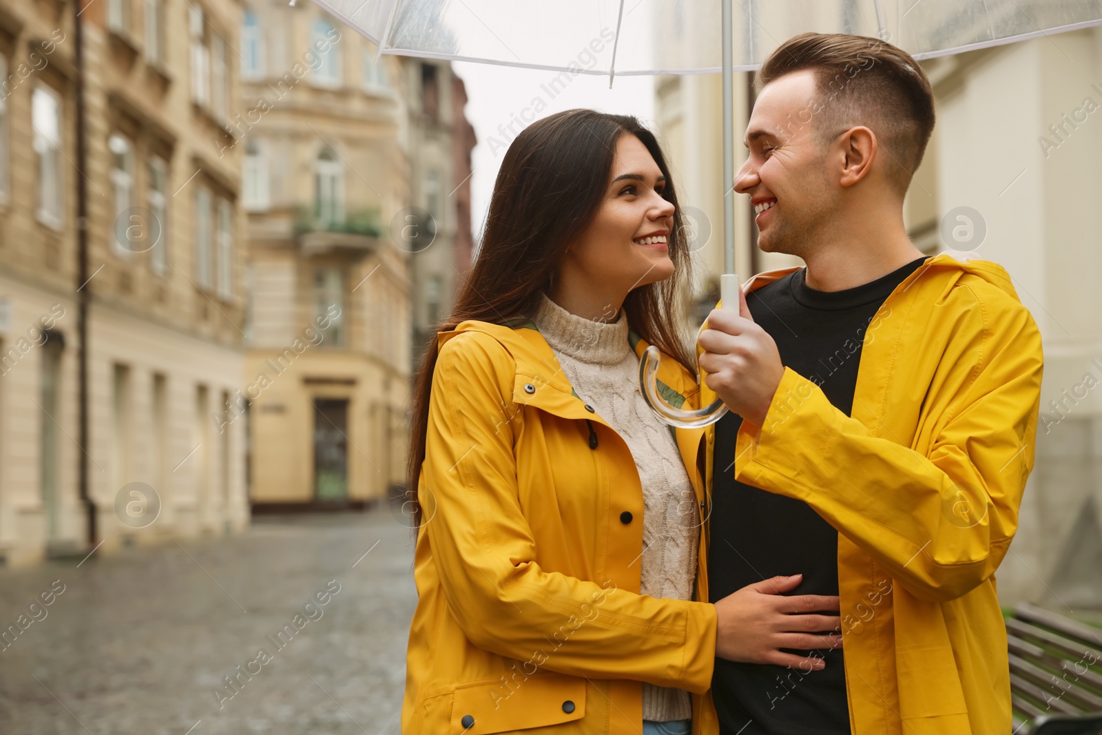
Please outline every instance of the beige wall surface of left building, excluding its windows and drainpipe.
[[[85, 31], [87, 161], [77, 170], [72, 3], [25, 3], [0, 0], [0, 54], [9, 71], [29, 64], [34, 46], [54, 40], [54, 48], [36, 60], [40, 68], [11, 87], [6, 99], [2, 133], [10, 153], [8, 196], [0, 197], [0, 301], [11, 314], [3, 352], [18, 345], [25, 329], [48, 314], [53, 304], [65, 310], [55, 328], [64, 338], [57, 409], [40, 408], [45, 348], [33, 347], [0, 377], [0, 555], [22, 564], [53, 552], [90, 551], [86, 510], [78, 498], [78, 468], [88, 457], [89, 496], [96, 502], [100, 553], [123, 542], [147, 542], [173, 536], [224, 533], [248, 522], [245, 504], [242, 437], [231, 426], [225, 443], [210, 415], [222, 410], [223, 391], [235, 387], [242, 369], [245, 240], [237, 207], [240, 162], [236, 151], [218, 155], [213, 143], [219, 125], [210, 109], [191, 99], [187, 13], [201, 7], [212, 34], [236, 45], [240, 6], [236, 0], [165, 0], [164, 56], [150, 63], [144, 54], [144, 3], [131, 0], [128, 30], [109, 32], [108, 3], [93, 3], [82, 13]], [[214, 37], [212, 35], [212, 37]], [[236, 60], [236, 56], [231, 57]], [[237, 100], [237, 64], [230, 61], [227, 96]], [[31, 94], [46, 85], [62, 99], [62, 192], [60, 228], [39, 221], [39, 173], [32, 141]], [[133, 145], [131, 205], [147, 207], [147, 161], [156, 153], [168, 163], [168, 220], [159, 244], [168, 250], [169, 268], [153, 268], [151, 251], [112, 248], [115, 190], [112, 133]], [[77, 187], [88, 191], [89, 437], [78, 444], [77, 356]], [[231, 206], [230, 290], [196, 285], [194, 193], [207, 186]], [[215, 271], [217, 273], [217, 269]], [[55, 343], [56, 344], [56, 343]], [[127, 368], [123, 420], [117, 432], [115, 365]], [[163, 376], [165, 404], [163, 447], [153, 451], [152, 381]], [[197, 411], [197, 386], [207, 386], [207, 406]], [[43, 426], [54, 428], [56, 523], [43, 497]], [[201, 443], [197, 437], [203, 437]], [[192, 440], [196, 441], [192, 441]], [[192, 453], [192, 450], [199, 446]], [[191, 456], [188, 456], [191, 454]], [[206, 457], [206, 462], [199, 460]], [[160, 465], [158, 469], [154, 465]], [[206, 474], [198, 474], [198, 466]], [[173, 472], [173, 468], [175, 471]], [[163, 502], [150, 526], [125, 526], [115, 499], [131, 482], [148, 483]]]

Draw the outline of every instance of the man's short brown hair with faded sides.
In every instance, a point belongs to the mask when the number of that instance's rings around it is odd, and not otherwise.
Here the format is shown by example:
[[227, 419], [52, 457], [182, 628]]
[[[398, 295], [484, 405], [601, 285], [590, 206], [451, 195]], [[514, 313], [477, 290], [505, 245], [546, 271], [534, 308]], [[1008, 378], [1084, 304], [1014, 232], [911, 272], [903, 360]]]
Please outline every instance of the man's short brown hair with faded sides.
[[[904, 196], [933, 132], [933, 90], [922, 67], [879, 39], [801, 33], [761, 64], [757, 88], [802, 69], [814, 72], [818, 104], [809, 112], [821, 148], [853, 126], [866, 126], [887, 153], [888, 181]], [[802, 110], [800, 117], [810, 121]]]

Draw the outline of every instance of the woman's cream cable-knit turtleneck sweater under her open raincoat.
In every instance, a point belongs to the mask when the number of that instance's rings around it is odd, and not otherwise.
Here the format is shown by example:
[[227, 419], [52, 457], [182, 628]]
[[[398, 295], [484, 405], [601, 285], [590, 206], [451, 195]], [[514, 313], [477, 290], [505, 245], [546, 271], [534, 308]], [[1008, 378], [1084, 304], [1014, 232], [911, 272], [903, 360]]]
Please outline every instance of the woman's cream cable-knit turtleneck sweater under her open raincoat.
[[[691, 599], [696, 575], [696, 498], [673, 436], [639, 389], [639, 359], [628, 344], [627, 314], [604, 323], [571, 314], [543, 296], [532, 317], [574, 391], [619, 434], [642, 484], [640, 592]], [[692, 716], [689, 692], [642, 684], [642, 718]]]

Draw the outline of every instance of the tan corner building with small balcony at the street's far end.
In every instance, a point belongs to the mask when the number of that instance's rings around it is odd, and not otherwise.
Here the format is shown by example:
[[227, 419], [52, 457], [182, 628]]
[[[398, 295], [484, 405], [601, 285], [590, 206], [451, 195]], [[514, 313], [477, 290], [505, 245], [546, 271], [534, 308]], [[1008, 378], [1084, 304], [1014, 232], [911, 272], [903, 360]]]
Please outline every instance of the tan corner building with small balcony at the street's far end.
[[250, 498], [363, 506], [404, 479], [417, 325], [447, 307], [469, 242], [449, 194], [474, 145], [453, 133], [462, 82], [305, 2], [247, 7], [241, 51]]

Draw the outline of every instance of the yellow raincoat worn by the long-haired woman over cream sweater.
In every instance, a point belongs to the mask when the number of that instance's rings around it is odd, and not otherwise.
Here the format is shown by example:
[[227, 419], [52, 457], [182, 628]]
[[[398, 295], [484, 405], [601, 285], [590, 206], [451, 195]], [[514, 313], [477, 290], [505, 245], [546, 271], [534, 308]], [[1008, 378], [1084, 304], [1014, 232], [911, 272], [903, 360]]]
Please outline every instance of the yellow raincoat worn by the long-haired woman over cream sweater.
[[[704, 534], [704, 602], [639, 595], [635, 461], [536, 326], [463, 322], [437, 346], [402, 734], [639, 735], [644, 681], [693, 692], [694, 735], [719, 733]], [[694, 406], [672, 358], [658, 377], [667, 400]], [[676, 436], [703, 504], [703, 430]]]

